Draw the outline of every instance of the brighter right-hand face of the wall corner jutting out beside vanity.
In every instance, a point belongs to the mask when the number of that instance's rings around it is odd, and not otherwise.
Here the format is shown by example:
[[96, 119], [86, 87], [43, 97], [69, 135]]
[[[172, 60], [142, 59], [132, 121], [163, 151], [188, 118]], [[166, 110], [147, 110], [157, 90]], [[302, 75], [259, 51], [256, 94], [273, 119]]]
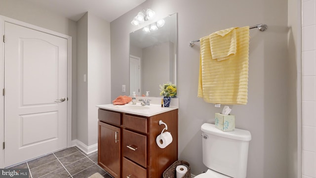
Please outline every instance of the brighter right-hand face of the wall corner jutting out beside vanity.
[[[88, 146], [98, 143], [98, 104], [111, 102], [110, 23], [88, 12]], [[81, 78], [82, 79], [82, 78]], [[79, 108], [85, 109], [85, 108]]]

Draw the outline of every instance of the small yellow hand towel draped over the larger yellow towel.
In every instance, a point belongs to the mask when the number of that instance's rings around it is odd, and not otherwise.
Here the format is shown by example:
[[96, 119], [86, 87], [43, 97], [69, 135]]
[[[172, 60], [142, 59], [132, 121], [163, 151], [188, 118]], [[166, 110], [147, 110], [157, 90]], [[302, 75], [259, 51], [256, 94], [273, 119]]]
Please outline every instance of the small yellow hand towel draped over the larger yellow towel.
[[232, 57], [237, 51], [236, 28], [212, 33], [209, 42], [213, 59], [221, 61]]

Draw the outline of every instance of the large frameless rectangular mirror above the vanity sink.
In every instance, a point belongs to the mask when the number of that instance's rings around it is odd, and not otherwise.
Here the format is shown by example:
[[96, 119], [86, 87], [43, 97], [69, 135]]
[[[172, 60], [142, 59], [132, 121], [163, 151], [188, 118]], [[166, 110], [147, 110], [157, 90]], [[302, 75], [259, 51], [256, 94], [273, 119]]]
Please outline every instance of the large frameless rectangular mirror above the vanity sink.
[[[159, 24], [159, 20], [129, 35], [129, 88], [141, 96], [158, 97], [159, 85], [177, 83], [177, 14], [164, 18], [164, 25], [155, 31], [144, 28]], [[158, 25], [157, 25], [158, 26]]]

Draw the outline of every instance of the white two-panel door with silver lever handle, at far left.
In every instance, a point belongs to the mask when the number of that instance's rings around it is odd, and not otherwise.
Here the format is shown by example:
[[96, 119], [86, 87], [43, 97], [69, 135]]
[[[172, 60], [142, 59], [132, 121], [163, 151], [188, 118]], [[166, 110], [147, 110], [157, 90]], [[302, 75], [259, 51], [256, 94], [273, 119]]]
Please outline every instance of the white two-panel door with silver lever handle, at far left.
[[67, 147], [67, 39], [8, 22], [4, 34], [7, 167]]

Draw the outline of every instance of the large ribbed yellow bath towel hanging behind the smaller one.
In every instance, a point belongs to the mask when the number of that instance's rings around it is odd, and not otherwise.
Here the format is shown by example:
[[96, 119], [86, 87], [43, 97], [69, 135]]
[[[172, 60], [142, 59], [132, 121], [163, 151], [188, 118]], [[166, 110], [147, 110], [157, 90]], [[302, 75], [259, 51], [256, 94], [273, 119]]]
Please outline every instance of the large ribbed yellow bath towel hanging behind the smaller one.
[[[210, 47], [210, 39], [212, 38], [210, 36], [213, 34], [200, 39], [197, 96], [203, 97], [205, 102], [220, 104], [247, 103], [249, 26], [234, 28], [232, 31], [236, 33], [236, 53], [230, 54], [228, 52], [229, 57], [225, 60], [217, 61], [212, 58]], [[221, 41], [221, 38], [216, 38], [216, 40]], [[223, 42], [229, 43], [229, 45], [223, 45], [226, 47], [230, 47], [232, 43], [231, 41]], [[227, 48], [223, 50], [226, 50], [226, 54], [227, 51], [230, 51]]]

